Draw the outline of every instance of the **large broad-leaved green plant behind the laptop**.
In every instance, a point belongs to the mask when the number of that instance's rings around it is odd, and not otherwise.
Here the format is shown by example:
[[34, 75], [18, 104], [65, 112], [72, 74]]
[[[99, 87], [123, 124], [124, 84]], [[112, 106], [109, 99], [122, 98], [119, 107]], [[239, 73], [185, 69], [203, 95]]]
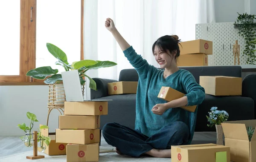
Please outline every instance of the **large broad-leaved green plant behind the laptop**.
[[[116, 63], [111, 61], [99, 61], [99, 60], [97, 61], [81, 60], [81, 61], [76, 61], [70, 64], [67, 60], [67, 55], [64, 53], [64, 51], [62, 51], [56, 45], [53, 45], [51, 43], [47, 43], [46, 46], [48, 51], [52, 54], [52, 56], [57, 59], [57, 61], [55, 62], [55, 65], [61, 65], [65, 69], [65, 71], [77, 69], [79, 72], [81, 85], [85, 83], [85, 80], [83, 79], [83, 77], [87, 77], [90, 80], [89, 88], [92, 88], [94, 90], [97, 90], [96, 82], [93, 79], [91, 79], [89, 76], [87, 76], [85, 72], [90, 69], [106, 68], [106, 67], [117, 65]], [[61, 74], [57, 74], [58, 72], [59, 72], [58, 69], [52, 69], [51, 66], [43, 66], [43, 67], [29, 70], [26, 73], [26, 76], [39, 79], [39, 80], [44, 80], [44, 83], [46, 84], [54, 84], [55, 82], [62, 81]]]

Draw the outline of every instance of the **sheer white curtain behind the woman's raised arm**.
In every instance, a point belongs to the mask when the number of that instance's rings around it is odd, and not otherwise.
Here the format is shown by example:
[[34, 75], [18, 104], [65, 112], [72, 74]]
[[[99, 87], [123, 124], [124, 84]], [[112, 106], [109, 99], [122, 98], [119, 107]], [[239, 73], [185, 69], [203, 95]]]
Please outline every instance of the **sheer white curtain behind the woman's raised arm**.
[[[214, 0], [84, 0], [84, 59], [117, 63], [87, 75], [118, 80], [122, 69], [133, 67], [105, 28], [108, 17], [138, 54], [160, 67], [151, 51], [154, 41], [166, 34], [195, 40], [195, 24], [215, 23]], [[86, 99], [90, 99], [88, 87], [89, 80]]]

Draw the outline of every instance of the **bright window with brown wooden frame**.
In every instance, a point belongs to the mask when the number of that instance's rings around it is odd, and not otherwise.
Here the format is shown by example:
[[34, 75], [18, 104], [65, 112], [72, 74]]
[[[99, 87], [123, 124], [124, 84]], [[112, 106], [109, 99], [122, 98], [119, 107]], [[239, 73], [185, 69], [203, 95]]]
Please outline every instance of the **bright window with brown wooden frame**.
[[83, 0], [0, 1], [0, 21], [5, 24], [0, 27], [0, 85], [44, 84], [26, 76], [41, 66], [63, 71], [46, 43], [61, 48], [69, 63], [82, 60], [83, 4]]

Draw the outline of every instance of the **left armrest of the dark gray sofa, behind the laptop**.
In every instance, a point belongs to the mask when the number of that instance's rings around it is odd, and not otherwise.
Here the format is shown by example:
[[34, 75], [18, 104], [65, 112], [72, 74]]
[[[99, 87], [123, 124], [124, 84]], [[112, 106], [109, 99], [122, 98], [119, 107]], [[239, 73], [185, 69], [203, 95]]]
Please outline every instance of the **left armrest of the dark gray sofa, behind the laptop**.
[[108, 96], [108, 83], [118, 82], [117, 80], [92, 78], [96, 82], [97, 91], [90, 89], [90, 99], [97, 99]]

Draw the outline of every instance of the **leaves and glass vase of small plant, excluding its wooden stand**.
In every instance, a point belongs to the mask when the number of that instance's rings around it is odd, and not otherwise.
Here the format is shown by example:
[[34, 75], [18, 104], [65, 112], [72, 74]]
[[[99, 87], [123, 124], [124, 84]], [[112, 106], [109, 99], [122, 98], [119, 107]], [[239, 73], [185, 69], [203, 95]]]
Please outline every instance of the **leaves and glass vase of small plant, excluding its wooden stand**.
[[[40, 133], [38, 133], [38, 139], [33, 139], [31, 130], [34, 126], [34, 122], [38, 122], [38, 120], [36, 119], [37, 118], [36, 115], [33, 113], [27, 112], [26, 116], [28, 117], [28, 119], [30, 119], [29, 126], [27, 126], [24, 122], [22, 124], [17, 125], [18, 128], [20, 128], [21, 130], [23, 130], [26, 133], [25, 136], [21, 136], [20, 139], [22, 141], [24, 141], [24, 144], [26, 147], [32, 147], [34, 145], [34, 140], [37, 140], [37, 142], [40, 141], [40, 143], [42, 143], [42, 147], [40, 145], [39, 146], [40, 149], [38, 149], [38, 150], [41, 150], [41, 152], [42, 152], [45, 150], [43, 141], [48, 146], [51, 139], [49, 137], [44, 137], [43, 135], [41, 135], [41, 131], [39, 131]], [[48, 128], [48, 126], [41, 125], [40, 129], [41, 128]], [[44, 150], [43, 150], [43, 148], [44, 148]]]

